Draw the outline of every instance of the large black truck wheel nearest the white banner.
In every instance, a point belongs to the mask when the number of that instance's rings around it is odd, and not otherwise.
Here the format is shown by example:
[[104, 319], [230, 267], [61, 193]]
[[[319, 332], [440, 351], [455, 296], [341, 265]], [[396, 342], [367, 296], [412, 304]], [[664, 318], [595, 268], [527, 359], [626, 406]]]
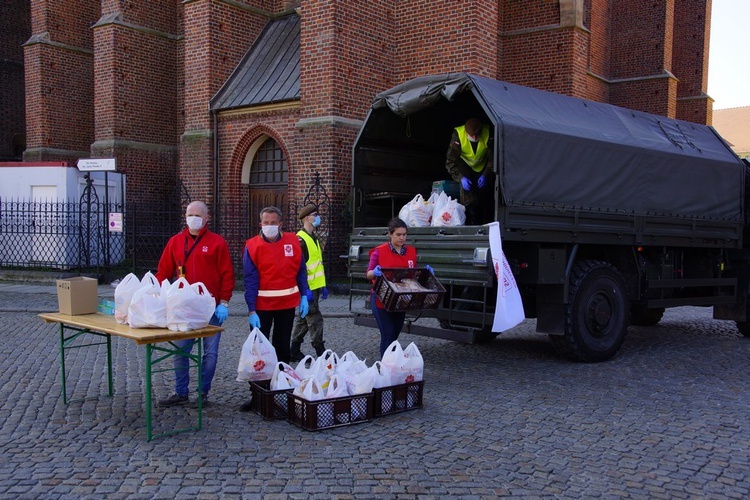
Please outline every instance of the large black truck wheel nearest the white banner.
[[630, 308], [622, 274], [611, 264], [584, 260], [570, 275], [565, 334], [550, 335], [555, 347], [575, 361], [612, 358], [628, 329]]

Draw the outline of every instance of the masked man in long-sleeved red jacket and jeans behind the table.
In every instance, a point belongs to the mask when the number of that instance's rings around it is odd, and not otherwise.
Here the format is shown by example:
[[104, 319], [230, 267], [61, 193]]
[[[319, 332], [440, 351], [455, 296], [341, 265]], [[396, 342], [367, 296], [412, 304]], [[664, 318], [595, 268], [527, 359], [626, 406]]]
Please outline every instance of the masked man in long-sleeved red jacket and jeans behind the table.
[[[234, 290], [234, 269], [227, 242], [216, 233], [208, 230], [208, 207], [202, 201], [190, 203], [185, 212], [187, 228], [170, 238], [159, 259], [156, 279], [175, 281], [184, 277], [188, 283], [202, 282], [216, 300], [216, 310], [209, 321], [210, 325], [220, 326], [227, 319], [227, 305]], [[201, 383], [199, 387], [203, 405], [208, 404], [208, 391], [216, 372], [219, 357], [221, 332], [203, 338], [203, 359], [201, 360]], [[174, 344], [192, 351], [196, 339], [177, 340]], [[188, 358], [174, 357], [175, 392], [159, 401], [159, 406], [172, 406], [187, 403], [190, 373]]]

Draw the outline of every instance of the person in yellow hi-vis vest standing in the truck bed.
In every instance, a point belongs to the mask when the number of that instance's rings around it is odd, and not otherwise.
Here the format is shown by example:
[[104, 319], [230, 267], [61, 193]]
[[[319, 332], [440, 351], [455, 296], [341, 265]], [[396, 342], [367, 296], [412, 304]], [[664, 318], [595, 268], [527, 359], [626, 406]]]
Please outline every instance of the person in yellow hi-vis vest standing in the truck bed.
[[445, 168], [461, 184], [461, 204], [466, 207], [466, 225], [494, 220], [494, 141], [490, 126], [477, 118], [453, 129]]

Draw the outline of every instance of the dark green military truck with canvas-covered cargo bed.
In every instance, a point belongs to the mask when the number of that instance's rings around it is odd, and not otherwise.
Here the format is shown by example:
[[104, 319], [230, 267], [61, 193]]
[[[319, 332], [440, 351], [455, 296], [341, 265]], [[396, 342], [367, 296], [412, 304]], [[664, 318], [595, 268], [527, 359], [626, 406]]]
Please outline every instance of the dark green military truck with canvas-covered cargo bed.
[[[525, 316], [562, 354], [610, 359], [629, 325], [679, 306], [712, 306], [750, 336], [745, 165], [713, 128], [468, 73], [374, 99], [353, 148], [352, 293], [368, 288], [389, 219], [450, 179], [450, 136], [470, 117], [492, 126], [495, 220]], [[494, 338], [487, 226], [410, 227], [407, 243], [446, 293], [405, 330]], [[355, 322], [375, 326], [365, 312]]]

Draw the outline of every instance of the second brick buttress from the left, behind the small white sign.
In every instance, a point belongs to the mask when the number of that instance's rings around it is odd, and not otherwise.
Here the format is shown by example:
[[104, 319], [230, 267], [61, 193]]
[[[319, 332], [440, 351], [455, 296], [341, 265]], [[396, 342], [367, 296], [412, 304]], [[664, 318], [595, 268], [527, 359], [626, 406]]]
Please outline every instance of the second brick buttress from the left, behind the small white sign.
[[168, 198], [182, 131], [179, 0], [102, 2], [94, 32], [94, 157], [114, 157], [128, 200]]

